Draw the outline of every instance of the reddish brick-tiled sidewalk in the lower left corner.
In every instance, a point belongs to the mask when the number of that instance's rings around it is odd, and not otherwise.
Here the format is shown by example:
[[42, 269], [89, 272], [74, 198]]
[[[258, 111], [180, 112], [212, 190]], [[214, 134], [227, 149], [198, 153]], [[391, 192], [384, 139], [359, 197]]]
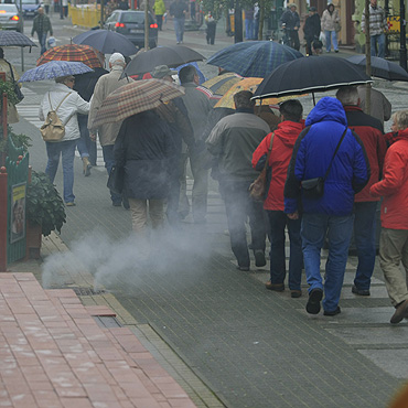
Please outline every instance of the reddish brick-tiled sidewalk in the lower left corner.
[[116, 314], [32, 273], [0, 273], [0, 406], [194, 407], [129, 329], [94, 315]]

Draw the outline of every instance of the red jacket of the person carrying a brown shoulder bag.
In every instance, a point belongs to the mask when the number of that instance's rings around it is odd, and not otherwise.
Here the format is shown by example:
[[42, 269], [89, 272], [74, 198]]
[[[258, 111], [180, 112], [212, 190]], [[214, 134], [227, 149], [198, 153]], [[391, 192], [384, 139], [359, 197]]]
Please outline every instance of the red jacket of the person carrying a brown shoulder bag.
[[[283, 187], [287, 180], [288, 167], [293, 152], [294, 142], [299, 133], [304, 129], [304, 120], [294, 122], [284, 120], [278, 125], [275, 130], [272, 151], [269, 158], [269, 167], [271, 169], [271, 180], [268, 191], [268, 196], [264, 202], [265, 210], [283, 211]], [[253, 167], [257, 168], [259, 160], [266, 159], [270, 146], [272, 133], [266, 136], [253, 154]], [[259, 167], [258, 167], [259, 170]]]

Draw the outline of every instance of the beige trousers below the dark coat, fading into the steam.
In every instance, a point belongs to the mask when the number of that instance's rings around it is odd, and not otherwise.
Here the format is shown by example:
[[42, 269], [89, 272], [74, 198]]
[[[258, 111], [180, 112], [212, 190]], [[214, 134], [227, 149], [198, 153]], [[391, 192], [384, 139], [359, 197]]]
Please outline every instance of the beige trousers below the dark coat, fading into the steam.
[[146, 234], [148, 226], [148, 206], [152, 228], [157, 229], [163, 226], [164, 200], [129, 198], [129, 205], [135, 233]]

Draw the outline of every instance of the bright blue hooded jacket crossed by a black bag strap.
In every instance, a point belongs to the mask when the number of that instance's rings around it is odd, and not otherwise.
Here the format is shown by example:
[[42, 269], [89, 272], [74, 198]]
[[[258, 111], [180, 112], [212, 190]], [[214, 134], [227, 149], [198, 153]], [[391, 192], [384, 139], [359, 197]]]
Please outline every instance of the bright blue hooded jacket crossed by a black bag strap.
[[323, 178], [337, 143], [347, 128], [342, 104], [331, 97], [322, 98], [305, 120], [299, 135], [284, 184], [284, 212], [345, 216], [353, 212], [354, 194], [367, 184], [369, 163], [363, 142], [347, 130], [334, 157], [324, 182], [324, 194], [318, 200], [302, 196], [301, 181]]

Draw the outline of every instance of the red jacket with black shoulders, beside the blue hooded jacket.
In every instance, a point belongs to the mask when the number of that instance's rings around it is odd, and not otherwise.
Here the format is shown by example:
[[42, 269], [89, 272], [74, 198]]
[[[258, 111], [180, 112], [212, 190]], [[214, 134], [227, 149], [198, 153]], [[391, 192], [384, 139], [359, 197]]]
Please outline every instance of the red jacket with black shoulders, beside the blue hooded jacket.
[[364, 114], [357, 106], [344, 106], [344, 110], [347, 117], [348, 128], [355, 131], [359, 139], [362, 139], [372, 170], [372, 176], [367, 185], [354, 196], [354, 201], [357, 203], [379, 201], [379, 197], [373, 197], [369, 194], [369, 187], [379, 181], [387, 151], [387, 143], [383, 135], [383, 125], [373, 116]]

